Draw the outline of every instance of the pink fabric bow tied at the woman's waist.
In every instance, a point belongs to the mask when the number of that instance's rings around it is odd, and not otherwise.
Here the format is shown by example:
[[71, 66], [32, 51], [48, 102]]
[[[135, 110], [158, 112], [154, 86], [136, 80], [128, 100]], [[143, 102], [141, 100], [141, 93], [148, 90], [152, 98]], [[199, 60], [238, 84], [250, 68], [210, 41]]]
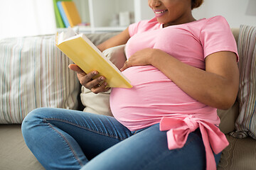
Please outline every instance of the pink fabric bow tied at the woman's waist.
[[[215, 158], [213, 152], [220, 153], [228, 146], [228, 140], [223, 132], [213, 125], [203, 120], [197, 120], [193, 116], [188, 115], [185, 118], [162, 118], [160, 122], [160, 130], [167, 131], [167, 142], [169, 149], [178, 149], [185, 145], [190, 132], [200, 128], [203, 144], [206, 148], [206, 169], [215, 170]], [[213, 149], [213, 151], [212, 151]]]

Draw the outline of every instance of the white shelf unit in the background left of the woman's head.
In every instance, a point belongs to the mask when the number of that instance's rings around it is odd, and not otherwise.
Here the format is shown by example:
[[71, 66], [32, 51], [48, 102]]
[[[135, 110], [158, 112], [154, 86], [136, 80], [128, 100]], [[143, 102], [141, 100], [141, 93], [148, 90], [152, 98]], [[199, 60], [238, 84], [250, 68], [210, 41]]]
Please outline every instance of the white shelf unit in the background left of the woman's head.
[[[130, 23], [149, 19], [153, 12], [147, 0], [73, 0], [78, 8], [82, 23], [90, 27], [79, 26], [83, 33], [122, 31]], [[122, 15], [126, 13], [126, 15]], [[127, 15], [127, 13], [129, 13]], [[119, 16], [124, 18], [120, 20]], [[122, 24], [119, 24], [122, 23]], [[58, 31], [61, 30], [58, 28]]]

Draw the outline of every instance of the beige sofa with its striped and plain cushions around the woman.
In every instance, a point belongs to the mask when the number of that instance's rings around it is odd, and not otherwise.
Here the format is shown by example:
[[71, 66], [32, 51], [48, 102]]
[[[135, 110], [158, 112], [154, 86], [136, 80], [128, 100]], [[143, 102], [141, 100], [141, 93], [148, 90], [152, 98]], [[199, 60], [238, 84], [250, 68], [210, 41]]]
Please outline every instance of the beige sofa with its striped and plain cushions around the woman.
[[[230, 142], [222, 152], [218, 170], [250, 170], [256, 169], [256, 28], [240, 26], [232, 31], [240, 54], [240, 89], [232, 108], [218, 110], [220, 130]], [[87, 37], [97, 45], [116, 34]], [[105, 55], [121, 67], [124, 45], [106, 50]], [[123, 56], [122, 61], [116, 56]], [[72, 62], [55, 47], [55, 35], [0, 40], [0, 59], [0, 169], [44, 169], [21, 134], [21, 122], [33, 108], [68, 108], [111, 116], [110, 91], [92, 94], [80, 86], [75, 73], [67, 69]]]

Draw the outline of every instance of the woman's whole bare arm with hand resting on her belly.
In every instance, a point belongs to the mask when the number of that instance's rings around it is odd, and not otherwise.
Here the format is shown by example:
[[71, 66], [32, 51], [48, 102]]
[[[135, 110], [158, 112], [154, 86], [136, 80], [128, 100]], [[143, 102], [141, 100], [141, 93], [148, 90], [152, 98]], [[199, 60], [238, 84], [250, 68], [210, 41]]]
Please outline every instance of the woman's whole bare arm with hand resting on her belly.
[[157, 49], [136, 52], [122, 70], [151, 64], [186, 94], [214, 108], [228, 109], [238, 94], [239, 72], [233, 52], [215, 52], [206, 57], [206, 71], [180, 62]]

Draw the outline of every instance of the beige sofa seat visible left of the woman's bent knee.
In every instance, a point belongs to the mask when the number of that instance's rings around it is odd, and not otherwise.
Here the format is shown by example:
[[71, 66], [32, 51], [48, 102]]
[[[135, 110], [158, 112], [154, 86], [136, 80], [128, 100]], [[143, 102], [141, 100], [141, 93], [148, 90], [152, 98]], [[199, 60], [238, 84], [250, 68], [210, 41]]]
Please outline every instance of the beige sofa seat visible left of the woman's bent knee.
[[26, 146], [21, 125], [0, 125], [0, 169], [44, 169]]

